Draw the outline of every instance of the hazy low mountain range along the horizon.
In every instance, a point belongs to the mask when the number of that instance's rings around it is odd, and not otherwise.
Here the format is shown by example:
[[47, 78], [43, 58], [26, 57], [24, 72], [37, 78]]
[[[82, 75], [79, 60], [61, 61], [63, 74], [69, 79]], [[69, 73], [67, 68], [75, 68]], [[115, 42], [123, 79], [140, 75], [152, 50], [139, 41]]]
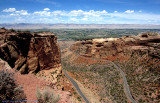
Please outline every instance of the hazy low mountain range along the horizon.
[[160, 25], [151, 24], [0, 24], [7, 29], [160, 29]]

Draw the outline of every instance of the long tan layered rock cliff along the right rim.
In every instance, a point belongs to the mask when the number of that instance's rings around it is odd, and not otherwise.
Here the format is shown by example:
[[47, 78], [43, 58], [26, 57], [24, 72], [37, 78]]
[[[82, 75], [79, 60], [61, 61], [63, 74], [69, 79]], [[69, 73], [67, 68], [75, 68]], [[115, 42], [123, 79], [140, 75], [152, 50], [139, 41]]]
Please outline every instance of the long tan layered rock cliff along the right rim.
[[72, 51], [86, 57], [107, 58], [134, 52], [135, 50], [150, 51], [160, 58], [160, 35], [143, 33], [138, 36], [122, 38], [105, 38], [80, 41], [71, 46]]

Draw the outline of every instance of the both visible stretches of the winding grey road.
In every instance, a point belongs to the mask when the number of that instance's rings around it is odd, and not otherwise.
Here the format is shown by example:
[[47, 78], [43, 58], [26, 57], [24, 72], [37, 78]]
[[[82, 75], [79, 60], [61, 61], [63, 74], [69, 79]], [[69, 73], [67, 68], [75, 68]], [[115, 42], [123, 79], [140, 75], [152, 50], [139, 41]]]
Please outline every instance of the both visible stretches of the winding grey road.
[[[71, 51], [70, 49], [69, 49], [69, 51], [72, 52], [72, 53], [74, 53], [74, 54], [76, 54], [76, 55], [78, 55], [78, 56], [81, 56], [81, 55], [79, 55], [78, 53]], [[81, 56], [81, 57], [84, 57], [84, 56]], [[87, 57], [84, 57], [84, 58], [87, 58]], [[100, 60], [100, 58], [93, 58], [93, 59], [99, 59], [99, 60]], [[137, 103], [137, 102], [134, 100], [134, 98], [132, 97], [132, 95], [131, 95], [131, 92], [130, 92], [130, 90], [129, 90], [129, 85], [128, 85], [127, 79], [126, 79], [126, 77], [125, 77], [125, 73], [124, 73], [114, 62], [108, 61], [108, 60], [104, 60], [104, 61], [107, 61], [107, 62], [113, 64], [114, 67], [120, 72], [120, 74], [121, 74], [121, 76], [122, 76], [122, 78], [123, 78], [123, 87], [124, 87], [124, 91], [125, 91], [125, 93], [126, 93], [127, 98], [128, 98], [132, 103]], [[78, 84], [77, 84], [64, 70], [63, 70], [63, 72], [64, 72], [65, 76], [71, 81], [71, 83], [72, 83], [73, 86], [76, 88], [76, 90], [77, 90], [78, 93], [81, 95], [81, 97], [85, 100], [85, 102], [86, 102], [86, 103], [89, 103], [89, 101], [87, 100], [87, 98], [86, 98], [86, 97], [84, 96], [84, 94], [81, 92]]]

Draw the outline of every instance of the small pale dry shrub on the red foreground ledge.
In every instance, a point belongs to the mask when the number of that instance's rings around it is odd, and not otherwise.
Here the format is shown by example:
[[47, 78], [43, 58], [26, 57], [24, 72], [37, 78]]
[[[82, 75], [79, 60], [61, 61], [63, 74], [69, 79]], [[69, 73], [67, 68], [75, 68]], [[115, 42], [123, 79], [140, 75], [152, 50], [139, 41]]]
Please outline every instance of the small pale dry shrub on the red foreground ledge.
[[43, 91], [37, 89], [36, 95], [39, 103], [57, 103], [60, 100], [59, 95], [54, 94], [54, 91], [48, 88], [45, 88]]

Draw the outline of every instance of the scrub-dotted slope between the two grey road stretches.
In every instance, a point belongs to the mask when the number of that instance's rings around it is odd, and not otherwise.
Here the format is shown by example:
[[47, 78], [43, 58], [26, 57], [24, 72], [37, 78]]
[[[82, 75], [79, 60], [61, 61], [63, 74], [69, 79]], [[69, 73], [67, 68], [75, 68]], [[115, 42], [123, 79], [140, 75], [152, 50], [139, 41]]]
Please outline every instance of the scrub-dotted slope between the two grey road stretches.
[[[69, 57], [70, 58], [70, 57]], [[121, 79], [119, 71], [112, 64], [97, 63], [92, 65], [70, 64], [62, 60], [63, 68], [73, 73], [75, 78], [83, 83], [101, 97], [101, 102], [107, 102], [105, 98], [117, 103], [126, 103], [127, 97], [123, 90], [123, 84], [119, 83]], [[87, 80], [87, 83], [84, 82]]]

